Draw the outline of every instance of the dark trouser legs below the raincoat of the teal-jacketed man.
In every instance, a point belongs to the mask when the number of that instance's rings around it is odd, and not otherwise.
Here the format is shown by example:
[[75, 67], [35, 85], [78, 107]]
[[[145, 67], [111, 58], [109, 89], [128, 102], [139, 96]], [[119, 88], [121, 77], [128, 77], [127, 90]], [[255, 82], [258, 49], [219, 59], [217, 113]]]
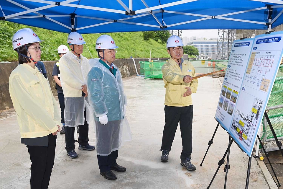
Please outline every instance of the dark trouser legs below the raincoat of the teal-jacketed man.
[[118, 158], [118, 150], [112, 151], [108, 156], [97, 155], [98, 167], [100, 172], [106, 172], [110, 170], [111, 166], [117, 164], [116, 159]]

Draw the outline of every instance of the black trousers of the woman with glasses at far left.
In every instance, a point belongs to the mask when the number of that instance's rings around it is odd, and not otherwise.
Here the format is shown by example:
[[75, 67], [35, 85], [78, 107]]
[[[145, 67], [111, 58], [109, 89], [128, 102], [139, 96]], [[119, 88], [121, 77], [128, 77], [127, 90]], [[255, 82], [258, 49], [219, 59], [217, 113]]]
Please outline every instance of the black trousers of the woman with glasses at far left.
[[48, 146], [27, 146], [30, 161], [30, 188], [47, 189], [54, 165], [56, 137], [48, 135]]

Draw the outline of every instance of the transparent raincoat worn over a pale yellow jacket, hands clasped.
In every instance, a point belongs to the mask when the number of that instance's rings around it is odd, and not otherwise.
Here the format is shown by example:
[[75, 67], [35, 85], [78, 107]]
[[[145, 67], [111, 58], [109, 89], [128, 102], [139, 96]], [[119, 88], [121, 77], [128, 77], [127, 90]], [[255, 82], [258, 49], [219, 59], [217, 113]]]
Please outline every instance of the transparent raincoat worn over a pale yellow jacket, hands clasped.
[[[86, 75], [90, 70], [88, 59], [80, 55], [75, 56], [68, 51], [60, 58], [60, 80], [65, 96], [65, 126], [75, 127], [76, 125], [84, 125], [86, 98], [82, 95], [82, 85], [86, 84]], [[88, 110], [88, 109], [87, 109]], [[91, 113], [87, 111], [86, 117], [89, 121]]]

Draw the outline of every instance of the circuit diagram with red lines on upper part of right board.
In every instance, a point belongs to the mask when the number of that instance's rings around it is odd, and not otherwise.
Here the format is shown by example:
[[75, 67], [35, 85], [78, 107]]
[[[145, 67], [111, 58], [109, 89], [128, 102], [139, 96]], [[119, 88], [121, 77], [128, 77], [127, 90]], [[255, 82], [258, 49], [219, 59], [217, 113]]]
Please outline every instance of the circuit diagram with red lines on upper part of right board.
[[270, 78], [269, 73], [274, 65], [274, 53], [271, 51], [252, 52], [245, 75], [245, 85], [267, 92]]

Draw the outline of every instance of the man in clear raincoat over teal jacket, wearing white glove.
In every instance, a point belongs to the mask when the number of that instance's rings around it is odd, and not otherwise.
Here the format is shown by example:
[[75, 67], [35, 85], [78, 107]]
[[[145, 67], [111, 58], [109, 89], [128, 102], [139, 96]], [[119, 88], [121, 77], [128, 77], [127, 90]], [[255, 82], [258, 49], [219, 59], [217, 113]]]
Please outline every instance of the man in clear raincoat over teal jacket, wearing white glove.
[[94, 110], [96, 125], [98, 166], [100, 174], [108, 180], [117, 179], [111, 170], [126, 171], [125, 167], [117, 164], [116, 159], [123, 141], [131, 140], [125, 117], [126, 96], [121, 72], [113, 64], [116, 48], [109, 35], [101, 35], [96, 40], [99, 58], [89, 60], [92, 68], [87, 77], [88, 100]]

